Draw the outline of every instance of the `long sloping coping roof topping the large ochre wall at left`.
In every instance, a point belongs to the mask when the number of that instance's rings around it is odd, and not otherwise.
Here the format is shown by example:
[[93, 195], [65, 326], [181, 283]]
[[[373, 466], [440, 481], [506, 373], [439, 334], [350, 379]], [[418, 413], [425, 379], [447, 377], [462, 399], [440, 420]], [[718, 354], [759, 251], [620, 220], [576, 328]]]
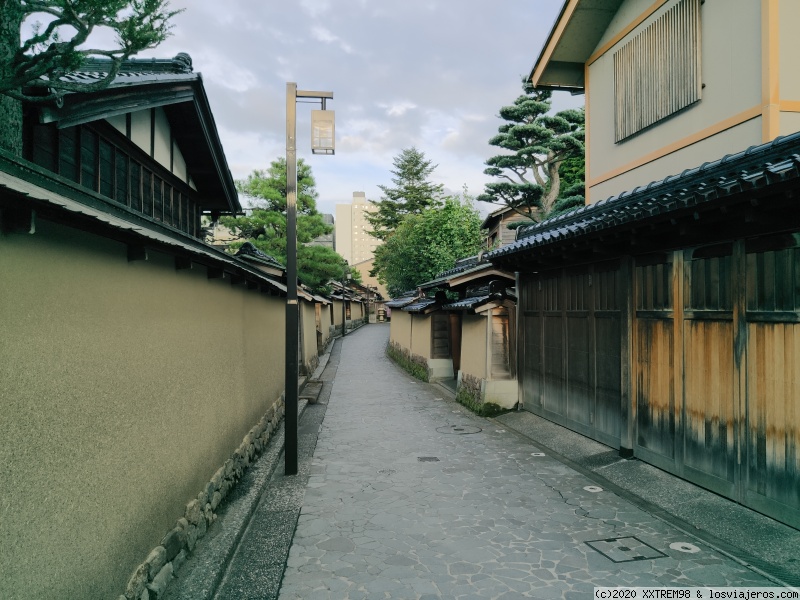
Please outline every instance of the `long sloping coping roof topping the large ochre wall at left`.
[[285, 295], [286, 286], [213, 246], [0, 150], [0, 190], [4, 210], [33, 210], [37, 216], [129, 245], [173, 254], [262, 291]]

